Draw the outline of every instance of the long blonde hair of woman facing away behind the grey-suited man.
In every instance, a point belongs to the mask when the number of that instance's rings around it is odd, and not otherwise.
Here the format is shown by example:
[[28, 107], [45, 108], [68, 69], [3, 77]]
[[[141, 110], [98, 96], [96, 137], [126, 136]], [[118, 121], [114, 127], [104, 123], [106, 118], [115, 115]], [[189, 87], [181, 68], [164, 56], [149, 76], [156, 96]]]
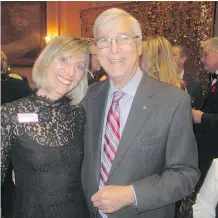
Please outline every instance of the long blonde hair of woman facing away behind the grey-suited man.
[[[184, 87], [178, 77], [172, 45], [164, 37], [148, 37], [142, 42], [141, 61], [146, 61], [147, 73], [151, 77], [176, 87]], [[141, 66], [143, 66], [142, 62]]]

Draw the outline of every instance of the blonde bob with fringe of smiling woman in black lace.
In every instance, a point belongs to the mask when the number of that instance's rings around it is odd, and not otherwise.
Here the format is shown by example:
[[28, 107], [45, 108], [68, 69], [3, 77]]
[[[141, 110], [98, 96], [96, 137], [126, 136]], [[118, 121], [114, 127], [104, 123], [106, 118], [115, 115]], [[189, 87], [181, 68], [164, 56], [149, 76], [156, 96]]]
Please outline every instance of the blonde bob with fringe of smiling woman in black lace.
[[33, 66], [33, 81], [37, 89], [48, 88], [46, 72], [51, 62], [62, 55], [62, 53], [70, 53], [72, 56], [85, 54], [85, 68], [83, 77], [77, 86], [68, 92], [66, 96], [71, 100], [72, 105], [76, 105], [84, 98], [87, 88], [87, 73], [89, 67], [89, 45], [90, 39], [77, 38], [70, 35], [62, 35], [55, 37], [41, 52]]

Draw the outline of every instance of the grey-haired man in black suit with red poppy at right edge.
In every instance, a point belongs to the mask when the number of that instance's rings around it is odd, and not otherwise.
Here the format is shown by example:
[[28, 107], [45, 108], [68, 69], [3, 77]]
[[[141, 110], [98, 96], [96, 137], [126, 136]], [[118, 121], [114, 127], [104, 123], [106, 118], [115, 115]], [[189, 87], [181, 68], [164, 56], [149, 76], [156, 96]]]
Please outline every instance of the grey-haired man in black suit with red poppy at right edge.
[[204, 69], [213, 73], [200, 110], [192, 110], [199, 148], [199, 166], [203, 177], [206, 175], [212, 160], [218, 157], [218, 37], [211, 38], [202, 44]]

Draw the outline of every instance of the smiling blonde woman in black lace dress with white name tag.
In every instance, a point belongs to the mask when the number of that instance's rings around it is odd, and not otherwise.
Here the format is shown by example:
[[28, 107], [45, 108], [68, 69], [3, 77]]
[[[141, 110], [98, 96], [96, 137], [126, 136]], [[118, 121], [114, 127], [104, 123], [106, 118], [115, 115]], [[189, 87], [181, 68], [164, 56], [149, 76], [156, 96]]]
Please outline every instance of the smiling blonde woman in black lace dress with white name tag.
[[14, 218], [87, 218], [81, 185], [89, 41], [58, 36], [33, 67], [37, 91], [1, 108], [2, 178], [15, 173]]

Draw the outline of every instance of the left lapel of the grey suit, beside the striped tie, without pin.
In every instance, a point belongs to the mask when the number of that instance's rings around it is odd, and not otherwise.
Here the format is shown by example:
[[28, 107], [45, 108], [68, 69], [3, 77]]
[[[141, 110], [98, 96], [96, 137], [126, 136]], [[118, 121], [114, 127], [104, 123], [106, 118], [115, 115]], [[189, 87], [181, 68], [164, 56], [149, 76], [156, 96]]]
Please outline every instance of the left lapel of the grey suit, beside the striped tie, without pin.
[[93, 114], [93, 157], [95, 161], [96, 182], [99, 184], [101, 165], [101, 139], [104, 124], [105, 108], [109, 91], [109, 80], [92, 99]]

